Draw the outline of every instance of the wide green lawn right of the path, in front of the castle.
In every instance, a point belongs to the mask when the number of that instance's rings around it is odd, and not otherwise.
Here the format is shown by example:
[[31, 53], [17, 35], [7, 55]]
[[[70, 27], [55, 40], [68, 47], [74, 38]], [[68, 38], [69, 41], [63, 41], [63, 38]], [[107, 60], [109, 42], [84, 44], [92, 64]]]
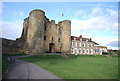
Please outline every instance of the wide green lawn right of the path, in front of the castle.
[[94, 55], [39, 55], [20, 58], [63, 79], [118, 79], [118, 57]]

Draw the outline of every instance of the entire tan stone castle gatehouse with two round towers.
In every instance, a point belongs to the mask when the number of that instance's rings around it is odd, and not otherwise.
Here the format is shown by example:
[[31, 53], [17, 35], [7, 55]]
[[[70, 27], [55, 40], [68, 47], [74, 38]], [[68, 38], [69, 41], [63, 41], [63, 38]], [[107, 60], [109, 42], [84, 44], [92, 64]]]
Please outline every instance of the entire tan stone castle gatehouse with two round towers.
[[71, 21], [49, 21], [42, 10], [33, 10], [24, 19], [23, 32], [18, 40], [23, 53], [70, 53]]

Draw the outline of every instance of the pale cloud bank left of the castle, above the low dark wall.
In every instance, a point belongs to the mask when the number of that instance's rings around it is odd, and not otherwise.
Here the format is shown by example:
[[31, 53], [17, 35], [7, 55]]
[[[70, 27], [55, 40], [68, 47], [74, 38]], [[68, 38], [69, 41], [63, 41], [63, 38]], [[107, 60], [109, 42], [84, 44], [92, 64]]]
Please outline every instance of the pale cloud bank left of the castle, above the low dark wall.
[[3, 21], [2, 22], [2, 37], [8, 39], [16, 39], [20, 37], [22, 33], [22, 21], [15, 20], [15, 21]]

